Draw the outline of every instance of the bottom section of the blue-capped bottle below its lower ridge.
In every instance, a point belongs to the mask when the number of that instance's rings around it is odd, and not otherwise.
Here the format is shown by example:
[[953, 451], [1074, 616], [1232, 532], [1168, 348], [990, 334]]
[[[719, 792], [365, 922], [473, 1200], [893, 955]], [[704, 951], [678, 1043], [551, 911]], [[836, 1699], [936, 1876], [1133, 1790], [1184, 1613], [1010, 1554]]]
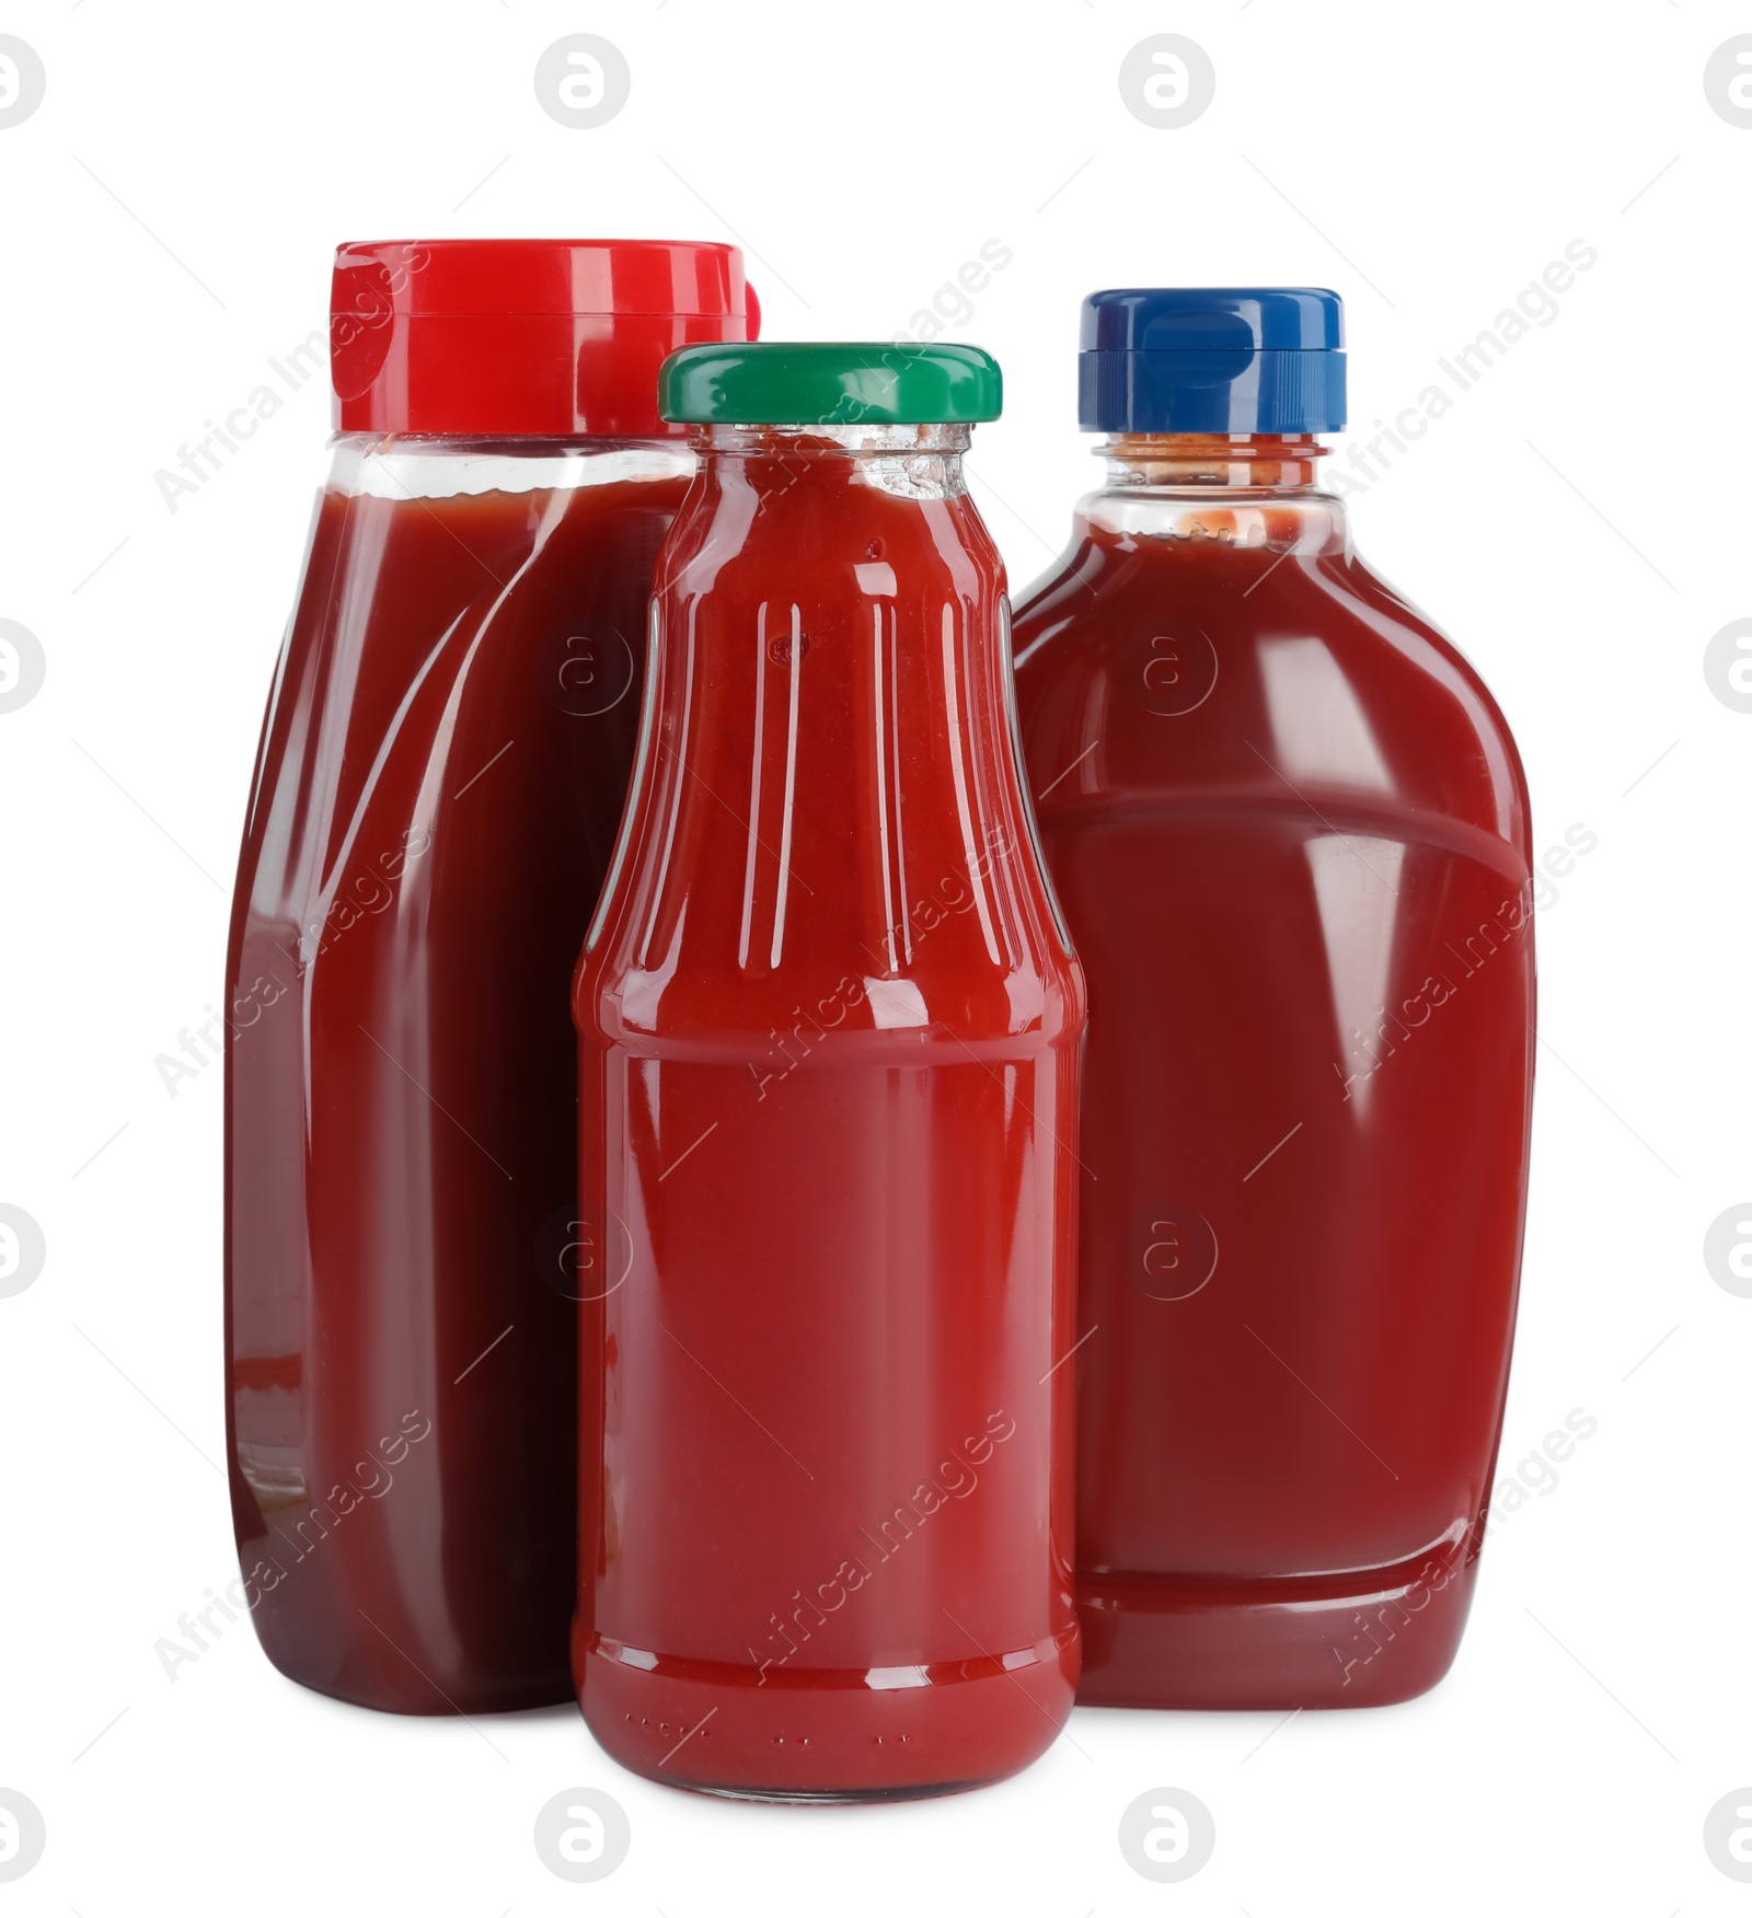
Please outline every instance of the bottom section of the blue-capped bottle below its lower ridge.
[[1290, 1711], [1397, 1705], [1455, 1661], [1478, 1557], [1297, 1579], [1077, 1580], [1080, 1705]]

